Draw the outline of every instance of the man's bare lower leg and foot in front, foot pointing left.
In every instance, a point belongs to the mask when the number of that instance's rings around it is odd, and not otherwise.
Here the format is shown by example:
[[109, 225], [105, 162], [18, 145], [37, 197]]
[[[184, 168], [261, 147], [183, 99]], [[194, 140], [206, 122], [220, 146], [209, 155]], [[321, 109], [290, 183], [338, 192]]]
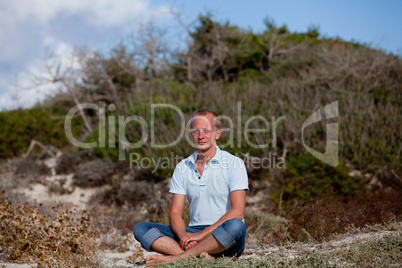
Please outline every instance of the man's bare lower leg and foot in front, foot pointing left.
[[201, 254], [216, 254], [224, 251], [225, 248], [216, 240], [216, 238], [211, 234], [199, 241], [192, 248], [184, 251], [180, 255], [172, 256], [160, 256], [160, 255], [149, 255], [146, 260], [147, 266], [153, 266], [154, 264], [175, 261], [179, 258], [190, 258], [192, 256], [199, 257]]

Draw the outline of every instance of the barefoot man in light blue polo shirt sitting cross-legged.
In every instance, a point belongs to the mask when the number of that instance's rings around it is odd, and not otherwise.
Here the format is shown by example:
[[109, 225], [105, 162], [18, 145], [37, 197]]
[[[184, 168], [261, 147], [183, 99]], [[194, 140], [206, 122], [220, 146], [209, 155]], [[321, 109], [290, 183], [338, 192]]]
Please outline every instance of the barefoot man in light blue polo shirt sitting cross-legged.
[[[219, 116], [209, 109], [197, 110], [191, 118], [191, 137], [197, 149], [175, 168], [170, 193], [170, 226], [141, 222], [135, 238], [150, 255], [147, 266], [179, 258], [204, 255], [240, 255], [245, 246], [244, 207], [248, 178], [244, 162], [219, 149]], [[190, 224], [182, 211], [187, 197]]]

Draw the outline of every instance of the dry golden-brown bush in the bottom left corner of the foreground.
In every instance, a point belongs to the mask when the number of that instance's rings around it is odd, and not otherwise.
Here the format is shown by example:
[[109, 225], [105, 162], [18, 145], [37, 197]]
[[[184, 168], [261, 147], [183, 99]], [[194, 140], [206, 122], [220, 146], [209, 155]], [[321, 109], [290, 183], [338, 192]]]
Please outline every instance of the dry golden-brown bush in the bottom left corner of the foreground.
[[42, 266], [92, 266], [96, 263], [98, 231], [86, 212], [53, 208], [39, 213], [27, 203], [12, 205], [0, 192], [0, 260]]

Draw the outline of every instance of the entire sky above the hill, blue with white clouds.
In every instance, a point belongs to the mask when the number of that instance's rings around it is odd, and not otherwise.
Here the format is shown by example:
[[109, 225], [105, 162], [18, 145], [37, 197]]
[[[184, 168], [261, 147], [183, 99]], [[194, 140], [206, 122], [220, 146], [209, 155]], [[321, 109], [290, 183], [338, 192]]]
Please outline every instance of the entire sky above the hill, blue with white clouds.
[[0, 0], [0, 110], [30, 107], [56, 92], [54, 85], [38, 87], [31, 79], [46, 77], [45, 48], [63, 60], [79, 46], [107, 51], [141, 24], [174, 25], [172, 8], [187, 22], [210, 11], [218, 21], [256, 32], [264, 30], [266, 17], [291, 31], [318, 26], [321, 36], [402, 55], [399, 0]]

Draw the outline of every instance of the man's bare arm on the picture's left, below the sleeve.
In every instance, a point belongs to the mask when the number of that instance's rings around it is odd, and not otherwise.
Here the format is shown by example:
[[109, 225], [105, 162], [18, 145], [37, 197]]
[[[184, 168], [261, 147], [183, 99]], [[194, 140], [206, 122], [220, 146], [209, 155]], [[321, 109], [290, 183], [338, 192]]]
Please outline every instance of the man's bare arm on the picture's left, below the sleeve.
[[186, 225], [182, 217], [185, 200], [185, 195], [173, 194], [169, 212], [170, 228], [179, 239], [186, 235]]

